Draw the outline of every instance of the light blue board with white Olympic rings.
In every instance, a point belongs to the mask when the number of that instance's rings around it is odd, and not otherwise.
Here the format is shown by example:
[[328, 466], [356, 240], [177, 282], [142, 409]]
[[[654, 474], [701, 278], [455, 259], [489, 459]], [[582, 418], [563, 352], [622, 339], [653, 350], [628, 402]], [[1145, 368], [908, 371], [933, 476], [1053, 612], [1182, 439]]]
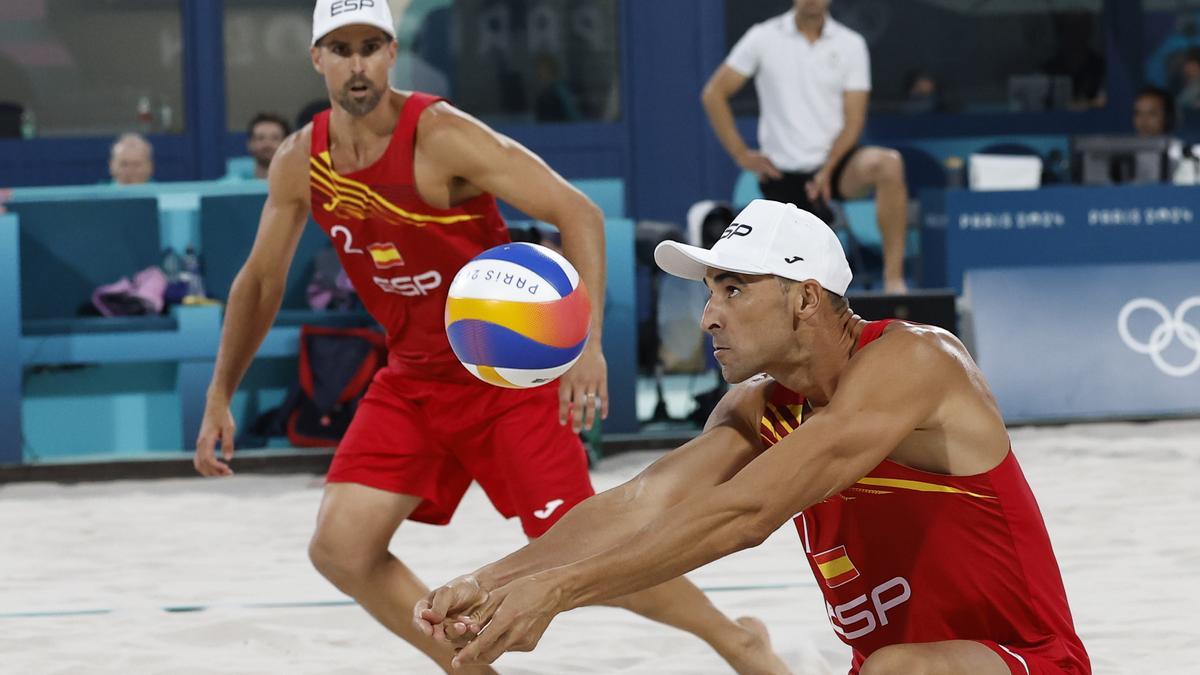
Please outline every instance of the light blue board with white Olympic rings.
[[971, 270], [966, 285], [1007, 422], [1200, 414], [1200, 263]]

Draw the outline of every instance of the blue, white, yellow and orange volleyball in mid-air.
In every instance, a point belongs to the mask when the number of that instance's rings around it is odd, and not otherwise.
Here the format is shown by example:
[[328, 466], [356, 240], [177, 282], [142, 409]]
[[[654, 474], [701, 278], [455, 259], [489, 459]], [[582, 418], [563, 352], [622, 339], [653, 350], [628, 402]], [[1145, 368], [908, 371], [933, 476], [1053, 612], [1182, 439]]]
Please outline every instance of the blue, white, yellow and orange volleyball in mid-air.
[[580, 358], [592, 330], [580, 273], [536, 244], [504, 244], [467, 263], [450, 283], [446, 336], [475, 377], [512, 389], [540, 387]]

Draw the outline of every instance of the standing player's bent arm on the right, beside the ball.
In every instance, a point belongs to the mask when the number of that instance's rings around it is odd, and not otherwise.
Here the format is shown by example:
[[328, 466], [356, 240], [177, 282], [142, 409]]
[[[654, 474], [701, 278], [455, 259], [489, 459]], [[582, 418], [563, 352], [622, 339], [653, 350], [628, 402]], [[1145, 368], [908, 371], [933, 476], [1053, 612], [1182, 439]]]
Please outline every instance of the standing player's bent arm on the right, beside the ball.
[[[604, 329], [604, 214], [582, 192], [523, 145], [446, 104], [431, 106], [418, 127], [415, 162], [421, 197], [434, 207], [490, 192], [563, 233], [563, 252], [592, 298], [592, 336], [562, 378], [559, 422], [590, 429], [608, 414]], [[599, 401], [599, 404], [598, 404]]]

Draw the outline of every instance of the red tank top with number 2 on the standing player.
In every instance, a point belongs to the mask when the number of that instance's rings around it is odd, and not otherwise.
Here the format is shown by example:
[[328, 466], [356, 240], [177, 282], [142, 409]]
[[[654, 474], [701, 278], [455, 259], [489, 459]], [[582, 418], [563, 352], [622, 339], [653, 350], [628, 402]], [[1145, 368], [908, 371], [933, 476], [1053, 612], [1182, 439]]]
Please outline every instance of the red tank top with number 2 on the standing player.
[[446, 340], [448, 288], [468, 261], [510, 239], [491, 195], [438, 209], [416, 192], [416, 123], [439, 100], [413, 92], [383, 156], [346, 174], [330, 159], [330, 112], [313, 118], [312, 217], [334, 240], [362, 304], [388, 331], [389, 364], [418, 377], [470, 382]]

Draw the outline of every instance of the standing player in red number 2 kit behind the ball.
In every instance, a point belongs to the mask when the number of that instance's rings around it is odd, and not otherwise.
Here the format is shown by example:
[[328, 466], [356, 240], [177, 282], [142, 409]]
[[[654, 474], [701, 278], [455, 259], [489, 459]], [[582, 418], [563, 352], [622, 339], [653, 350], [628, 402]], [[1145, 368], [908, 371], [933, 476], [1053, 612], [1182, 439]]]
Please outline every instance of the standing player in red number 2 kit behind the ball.
[[[390, 89], [388, 2], [318, 1], [311, 53], [331, 109], [293, 133], [271, 162], [258, 235], [229, 295], [194, 462], [205, 476], [232, 473], [229, 401], [278, 311], [311, 211], [386, 329], [389, 363], [334, 456], [310, 556], [335, 586], [449, 669], [452, 651], [412, 623], [427, 587], [389, 542], [404, 519], [448, 522], [472, 480], [530, 538], [593, 494], [576, 431], [607, 408], [602, 215], [511, 139], [436, 97]], [[450, 281], [509, 240], [497, 198], [559, 228], [592, 295], [592, 340], [560, 384], [493, 387], [450, 351]], [[726, 619], [684, 579], [612, 604], [697, 634], [737, 670], [784, 670], [761, 623]]]

